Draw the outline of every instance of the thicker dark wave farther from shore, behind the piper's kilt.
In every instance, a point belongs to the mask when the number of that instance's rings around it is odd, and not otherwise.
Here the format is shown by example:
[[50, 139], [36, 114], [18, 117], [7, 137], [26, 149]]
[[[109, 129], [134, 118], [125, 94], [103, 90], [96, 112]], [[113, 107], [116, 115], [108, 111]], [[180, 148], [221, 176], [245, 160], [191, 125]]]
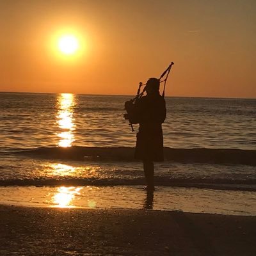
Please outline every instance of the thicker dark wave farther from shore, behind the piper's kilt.
[[[13, 154], [75, 161], [136, 161], [131, 147], [41, 147], [15, 150]], [[256, 166], [256, 150], [225, 148], [168, 148], [164, 159], [178, 163], [248, 164]]]

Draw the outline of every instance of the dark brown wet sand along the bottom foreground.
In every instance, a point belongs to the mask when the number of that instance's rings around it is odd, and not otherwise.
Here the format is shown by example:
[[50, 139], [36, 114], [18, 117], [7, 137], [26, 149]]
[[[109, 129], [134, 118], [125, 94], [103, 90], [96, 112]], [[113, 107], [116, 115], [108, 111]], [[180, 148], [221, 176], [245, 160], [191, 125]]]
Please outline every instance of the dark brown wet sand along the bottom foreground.
[[256, 255], [256, 216], [0, 205], [0, 255]]

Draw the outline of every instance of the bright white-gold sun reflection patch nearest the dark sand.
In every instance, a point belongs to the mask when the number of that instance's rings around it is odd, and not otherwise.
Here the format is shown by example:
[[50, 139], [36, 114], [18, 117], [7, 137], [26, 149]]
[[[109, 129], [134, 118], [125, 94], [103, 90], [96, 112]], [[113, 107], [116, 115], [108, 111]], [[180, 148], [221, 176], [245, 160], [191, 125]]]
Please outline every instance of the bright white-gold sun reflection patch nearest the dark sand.
[[75, 207], [72, 205], [72, 201], [77, 195], [80, 195], [81, 187], [60, 187], [57, 189], [57, 193], [52, 196], [52, 202], [55, 207]]

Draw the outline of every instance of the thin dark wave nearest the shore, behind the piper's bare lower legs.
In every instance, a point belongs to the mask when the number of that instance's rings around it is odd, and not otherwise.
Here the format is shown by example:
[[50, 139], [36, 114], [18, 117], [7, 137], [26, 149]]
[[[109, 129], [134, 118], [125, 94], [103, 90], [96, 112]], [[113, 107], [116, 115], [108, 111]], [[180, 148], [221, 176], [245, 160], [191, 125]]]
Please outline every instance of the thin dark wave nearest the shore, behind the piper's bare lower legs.
[[[155, 177], [156, 186], [221, 189], [238, 191], [256, 191], [255, 180], [230, 179], [170, 179]], [[10, 179], [0, 180], [0, 186], [144, 186], [145, 179], [79, 179], [79, 178], [49, 178], [49, 179]]]

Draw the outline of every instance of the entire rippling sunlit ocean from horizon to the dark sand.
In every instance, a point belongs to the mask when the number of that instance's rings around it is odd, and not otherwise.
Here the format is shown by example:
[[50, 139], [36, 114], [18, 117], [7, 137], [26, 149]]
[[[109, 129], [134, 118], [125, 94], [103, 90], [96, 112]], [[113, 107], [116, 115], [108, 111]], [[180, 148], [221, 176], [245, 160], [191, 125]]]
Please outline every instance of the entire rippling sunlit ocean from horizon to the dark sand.
[[131, 98], [0, 93], [0, 204], [256, 214], [256, 99], [166, 97], [149, 195]]

